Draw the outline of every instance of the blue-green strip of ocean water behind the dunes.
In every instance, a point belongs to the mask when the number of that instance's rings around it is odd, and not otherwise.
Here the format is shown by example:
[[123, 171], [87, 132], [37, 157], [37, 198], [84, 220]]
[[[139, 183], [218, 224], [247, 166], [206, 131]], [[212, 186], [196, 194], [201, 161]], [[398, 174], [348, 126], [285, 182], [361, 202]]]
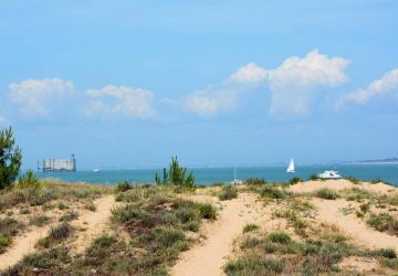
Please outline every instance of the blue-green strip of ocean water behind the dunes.
[[[233, 180], [231, 168], [192, 168], [196, 183], [211, 184]], [[337, 170], [343, 177], [354, 177], [360, 180], [381, 179], [398, 187], [398, 163], [378, 164], [328, 164], [328, 166], [296, 166], [296, 173], [286, 173], [285, 166], [275, 167], [237, 167], [237, 179], [263, 178], [269, 182], [285, 182], [293, 177], [307, 180], [310, 176], [324, 170]], [[87, 182], [115, 184], [124, 180], [133, 182], [154, 182], [155, 173], [161, 176], [161, 169], [128, 169], [100, 170], [97, 172], [82, 170], [76, 172], [39, 172], [42, 179], [54, 178], [69, 182]]]

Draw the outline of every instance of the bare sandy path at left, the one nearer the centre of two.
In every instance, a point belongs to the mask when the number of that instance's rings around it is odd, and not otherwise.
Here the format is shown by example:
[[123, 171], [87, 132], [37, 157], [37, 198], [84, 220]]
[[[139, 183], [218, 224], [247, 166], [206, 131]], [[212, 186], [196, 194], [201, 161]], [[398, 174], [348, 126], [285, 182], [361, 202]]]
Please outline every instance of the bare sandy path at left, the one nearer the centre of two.
[[76, 229], [84, 229], [84, 231], [78, 232], [77, 238], [71, 244], [75, 253], [83, 253], [95, 237], [108, 229], [115, 197], [113, 194], [106, 195], [94, 201], [94, 204], [96, 206], [95, 212], [86, 211], [72, 223]]

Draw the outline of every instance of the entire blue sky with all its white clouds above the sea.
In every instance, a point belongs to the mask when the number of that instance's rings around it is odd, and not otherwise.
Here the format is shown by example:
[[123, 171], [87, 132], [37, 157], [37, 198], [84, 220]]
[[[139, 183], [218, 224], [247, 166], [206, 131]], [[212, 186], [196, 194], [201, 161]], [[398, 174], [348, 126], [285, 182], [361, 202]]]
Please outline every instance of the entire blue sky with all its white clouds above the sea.
[[397, 157], [397, 30], [395, 0], [3, 0], [0, 128], [24, 168]]

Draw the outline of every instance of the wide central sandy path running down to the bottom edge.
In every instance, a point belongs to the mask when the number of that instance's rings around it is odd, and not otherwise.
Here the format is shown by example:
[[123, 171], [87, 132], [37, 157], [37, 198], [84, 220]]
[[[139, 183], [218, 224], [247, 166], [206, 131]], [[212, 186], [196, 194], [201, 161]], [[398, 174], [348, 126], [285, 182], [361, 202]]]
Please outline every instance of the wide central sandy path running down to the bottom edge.
[[260, 204], [255, 199], [253, 194], [241, 193], [238, 199], [222, 201], [218, 220], [205, 225], [207, 238], [181, 255], [171, 268], [171, 275], [222, 275], [222, 266], [232, 251], [234, 238], [242, 233], [247, 223], [261, 220], [256, 212], [261, 208], [253, 208]]

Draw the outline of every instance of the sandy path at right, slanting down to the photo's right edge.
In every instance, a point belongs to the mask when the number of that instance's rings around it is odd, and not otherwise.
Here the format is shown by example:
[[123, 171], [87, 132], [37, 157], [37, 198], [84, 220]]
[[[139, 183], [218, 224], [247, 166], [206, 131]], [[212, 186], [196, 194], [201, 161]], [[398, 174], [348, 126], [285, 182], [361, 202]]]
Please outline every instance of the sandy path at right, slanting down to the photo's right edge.
[[398, 237], [368, 227], [355, 214], [344, 215], [339, 209], [348, 206], [346, 200], [313, 199], [317, 208], [318, 217], [328, 224], [338, 226], [348, 234], [354, 242], [368, 248], [392, 247], [398, 251]]

